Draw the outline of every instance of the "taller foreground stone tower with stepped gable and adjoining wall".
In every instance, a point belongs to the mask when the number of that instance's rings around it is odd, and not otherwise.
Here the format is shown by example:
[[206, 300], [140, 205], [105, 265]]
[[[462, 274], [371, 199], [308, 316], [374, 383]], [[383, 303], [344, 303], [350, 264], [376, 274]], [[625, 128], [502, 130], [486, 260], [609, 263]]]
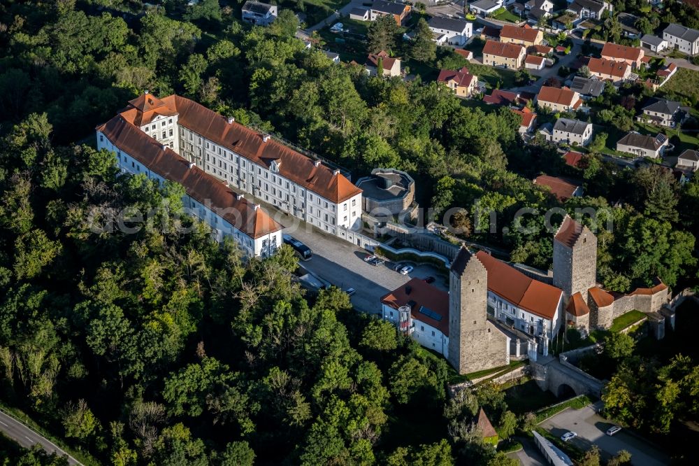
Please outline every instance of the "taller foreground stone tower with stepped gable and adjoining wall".
[[487, 319], [488, 271], [461, 248], [449, 271], [449, 363], [459, 374], [510, 363], [510, 339]]

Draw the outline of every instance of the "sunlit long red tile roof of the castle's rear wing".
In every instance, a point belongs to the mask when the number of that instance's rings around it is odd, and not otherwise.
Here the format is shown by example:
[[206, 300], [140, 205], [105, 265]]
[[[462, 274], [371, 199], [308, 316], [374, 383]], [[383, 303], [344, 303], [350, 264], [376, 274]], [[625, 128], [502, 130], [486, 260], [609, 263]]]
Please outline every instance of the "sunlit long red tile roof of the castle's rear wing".
[[242, 155], [261, 167], [269, 168], [276, 160], [279, 174], [315, 192], [331, 202], [340, 203], [358, 195], [361, 189], [342, 174], [324, 164], [315, 166], [313, 160], [282, 143], [237, 122], [230, 123], [221, 115], [195, 101], [173, 94], [162, 99], [166, 106], [178, 111], [178, 123], [210, 141]]

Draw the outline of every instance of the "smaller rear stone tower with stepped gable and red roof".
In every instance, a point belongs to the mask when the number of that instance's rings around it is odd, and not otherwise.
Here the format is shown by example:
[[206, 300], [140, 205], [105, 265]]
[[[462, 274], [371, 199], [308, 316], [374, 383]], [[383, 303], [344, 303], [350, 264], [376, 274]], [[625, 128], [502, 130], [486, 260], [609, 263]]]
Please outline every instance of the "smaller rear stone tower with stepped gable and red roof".
[[597, 236], [570, 216], [554, 236], [554, 286], [561, 288], [567, 301], [597, 285]]

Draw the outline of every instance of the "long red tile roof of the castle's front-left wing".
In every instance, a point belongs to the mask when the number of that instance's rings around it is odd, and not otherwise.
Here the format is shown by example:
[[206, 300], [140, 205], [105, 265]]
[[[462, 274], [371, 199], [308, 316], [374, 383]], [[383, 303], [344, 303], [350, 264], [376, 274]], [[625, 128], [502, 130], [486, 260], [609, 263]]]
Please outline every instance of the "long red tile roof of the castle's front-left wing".
[[189, 197], [202, 204], [210, 202], [213, 211], [248, 236], [259, 238], [282, 230], [282, 225], [264, 210], [255, 209], [254, 204], [245, 198], [238, 199], [236, 192], [199, 167], [190, 168], [187, 160], [170, 148], [163, 148], [158, 141], [120, 115], [97, 127], [97, 130], [148, 169], [167, 180], [180, 183]]

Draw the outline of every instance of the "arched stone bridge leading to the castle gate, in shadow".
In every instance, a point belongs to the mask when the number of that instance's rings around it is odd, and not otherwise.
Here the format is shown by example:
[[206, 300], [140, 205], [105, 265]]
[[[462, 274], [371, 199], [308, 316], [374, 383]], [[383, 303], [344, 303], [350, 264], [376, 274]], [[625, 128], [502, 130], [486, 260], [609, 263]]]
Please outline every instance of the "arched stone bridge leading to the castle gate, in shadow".
[[586, 374], [569, 362], [559, 360], [554, 356], [539, 355], [538, 360], [532, 362], [532, 376], [539, 388], [549, 390], [557, 397], [570, 397], [575, 395], [594, 395], [600, 397], [604, 382]]

